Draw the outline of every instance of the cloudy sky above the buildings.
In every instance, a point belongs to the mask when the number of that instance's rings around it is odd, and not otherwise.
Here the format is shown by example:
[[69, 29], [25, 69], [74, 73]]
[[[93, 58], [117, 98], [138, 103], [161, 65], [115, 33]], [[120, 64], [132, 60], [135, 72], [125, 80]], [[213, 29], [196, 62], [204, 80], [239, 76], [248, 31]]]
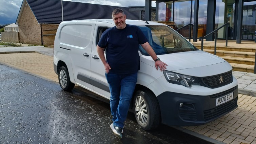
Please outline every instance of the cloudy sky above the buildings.
[[[145, 0], [63, 0], [83, 3], [103, 4], [112, 6], [142, 6]], [[43, 0], [42, 0], [43, 2]], [[19, 14], [22, 0], [0, 0], [0, 25], [15, 23]], [[156, 6], [152, 1], [152, 6]]]

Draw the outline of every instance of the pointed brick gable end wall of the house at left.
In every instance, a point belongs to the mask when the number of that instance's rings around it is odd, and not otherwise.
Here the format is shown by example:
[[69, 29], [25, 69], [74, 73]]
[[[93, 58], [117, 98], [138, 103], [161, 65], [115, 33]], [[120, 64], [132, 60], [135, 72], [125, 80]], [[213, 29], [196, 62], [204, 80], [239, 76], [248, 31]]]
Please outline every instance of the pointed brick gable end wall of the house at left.
[[18, 23], [21, 43], [41, 45], [41, 27], [28, 5], [24, 6]]

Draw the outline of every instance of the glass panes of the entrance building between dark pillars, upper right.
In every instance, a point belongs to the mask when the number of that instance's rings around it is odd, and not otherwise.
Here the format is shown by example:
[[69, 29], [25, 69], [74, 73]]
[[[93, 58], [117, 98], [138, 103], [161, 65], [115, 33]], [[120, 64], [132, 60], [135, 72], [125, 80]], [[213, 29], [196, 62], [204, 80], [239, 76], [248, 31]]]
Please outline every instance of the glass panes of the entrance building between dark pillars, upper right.
[[[225, 23], [229, 23], [228, 39], [235, 39], [236, 16], [235, 9], [238, 0], [216, 0], [215, 25], [217, 29]], [[158, 21], [173, 21], [176, 28], [181, 28], [190, 22], [194, 23], [194, 0], [171, 0], [158, 3]], [[199, 0], [198, 7], [198, 35], [206, 35], [208, 0]], [[192, 9], [191, 9], [192, 8]], [[191, 14], [192, 12], [192, 14]], [[189, 28], [189, 26], [188, 26]], [[188, 28], [179, 32], [188, 37]], [[193, 31], [193, 30], [192, 30]], [[226, 38], [226, 27], [218, 30], [218, 39]], [[254, 40], [256, 38], [256, 0], [244, 0], [242, 17], [242, 39]]]

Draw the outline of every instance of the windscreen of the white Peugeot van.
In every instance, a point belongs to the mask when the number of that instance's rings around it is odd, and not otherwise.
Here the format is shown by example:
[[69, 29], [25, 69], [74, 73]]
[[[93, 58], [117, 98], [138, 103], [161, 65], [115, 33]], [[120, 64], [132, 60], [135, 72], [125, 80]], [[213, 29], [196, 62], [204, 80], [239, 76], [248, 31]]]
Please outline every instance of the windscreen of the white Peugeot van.
[[[172, 54], [198, 50], [186, 39], [180, 36], [174, 29], [164, 25], [137, 25], [146, 36], [149, 44], [156, 55]], [[142, 55], [149, 56], [147, 52], [139, 46]]]

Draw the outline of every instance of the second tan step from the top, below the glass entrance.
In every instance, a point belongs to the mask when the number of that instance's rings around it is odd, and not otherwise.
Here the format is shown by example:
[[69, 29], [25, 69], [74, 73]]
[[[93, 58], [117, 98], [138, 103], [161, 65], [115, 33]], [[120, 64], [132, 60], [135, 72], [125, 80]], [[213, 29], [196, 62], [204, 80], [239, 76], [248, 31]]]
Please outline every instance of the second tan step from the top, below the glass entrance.
[[[213, 49], [204, 49], [205, 52], [214, 54]], [[240, 58], [252, 58], [255, 59], [255, 52], [237, 52], [237, 51], [226, 51], [216, 50], [217, 56], [229, 56], [229, 57], [240, 57]]]

